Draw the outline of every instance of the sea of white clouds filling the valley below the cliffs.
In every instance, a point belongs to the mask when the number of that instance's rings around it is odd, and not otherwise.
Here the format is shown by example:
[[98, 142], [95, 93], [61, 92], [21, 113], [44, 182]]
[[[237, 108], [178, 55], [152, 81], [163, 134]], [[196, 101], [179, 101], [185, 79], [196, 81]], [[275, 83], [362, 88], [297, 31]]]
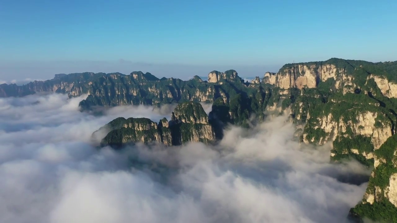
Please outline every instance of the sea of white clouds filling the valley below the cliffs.
[[0, 222], [347, 222], [366, 190], [338, 179], [370, 170], [299, 144], [285, 116], [229, 126], [217, 145], [115, 151], [95, 148], [92, 133], [116, 117], [169, 119], [173, 106], [94, 116], [79, 112], [82, 98], [0, 98]]

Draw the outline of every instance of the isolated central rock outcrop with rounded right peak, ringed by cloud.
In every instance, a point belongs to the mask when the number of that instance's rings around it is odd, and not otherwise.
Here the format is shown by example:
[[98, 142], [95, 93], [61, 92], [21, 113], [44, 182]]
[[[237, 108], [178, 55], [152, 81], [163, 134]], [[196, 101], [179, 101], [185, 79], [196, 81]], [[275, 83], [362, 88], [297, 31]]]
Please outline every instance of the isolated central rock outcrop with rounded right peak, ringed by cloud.
[[135, 142], [172, 146], [187, 142], [209, 143], [215, 140], [214, 130], [208, 123], [208, 115], [201, 104], [196, 102], [179, 104], [172, 113], [170, 122], [166, 118], [157, 124], [146, 118], [120, 117], [93, 133], [93, 136], [104, 129], [108, 133], [101, 140], [101, 146], [120, 147]]

